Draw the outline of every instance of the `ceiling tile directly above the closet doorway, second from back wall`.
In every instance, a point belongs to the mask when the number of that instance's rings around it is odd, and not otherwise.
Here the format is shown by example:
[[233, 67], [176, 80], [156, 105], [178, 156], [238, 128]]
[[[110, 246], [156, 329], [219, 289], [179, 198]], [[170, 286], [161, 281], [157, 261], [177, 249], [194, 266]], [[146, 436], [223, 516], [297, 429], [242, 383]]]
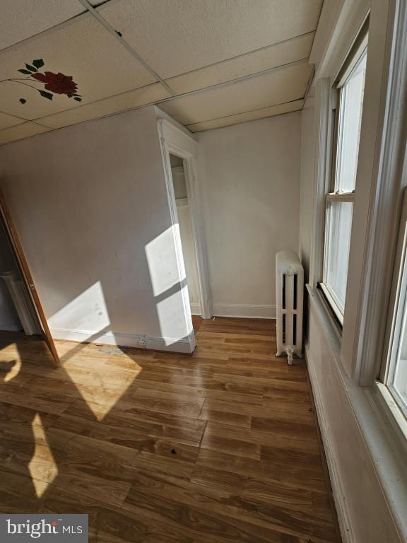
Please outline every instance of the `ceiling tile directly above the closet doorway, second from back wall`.
[[303, 63], [220, 88], [182, 96], [160, 104], [182, 124], [194, 124], [227, 115], [303, 98], [312, 65]]

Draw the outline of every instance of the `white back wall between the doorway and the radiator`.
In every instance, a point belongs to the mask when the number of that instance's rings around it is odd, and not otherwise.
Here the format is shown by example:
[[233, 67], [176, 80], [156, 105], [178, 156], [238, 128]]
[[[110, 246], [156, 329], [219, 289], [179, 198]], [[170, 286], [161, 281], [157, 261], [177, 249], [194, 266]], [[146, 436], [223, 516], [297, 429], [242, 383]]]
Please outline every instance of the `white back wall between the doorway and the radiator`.
[[275, 317], [275, 256], [298, 250], [299, 112], [197, 134], [214, 315]]

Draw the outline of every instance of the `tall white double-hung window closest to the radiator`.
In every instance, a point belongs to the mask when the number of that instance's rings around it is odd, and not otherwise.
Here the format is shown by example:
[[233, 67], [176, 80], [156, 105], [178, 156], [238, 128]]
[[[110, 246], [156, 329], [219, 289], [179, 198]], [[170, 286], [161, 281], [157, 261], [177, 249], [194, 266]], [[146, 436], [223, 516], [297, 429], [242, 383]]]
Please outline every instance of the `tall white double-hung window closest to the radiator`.
[[334, 89], [338, 110], [333, 110], [331, 186], [326, 194], [324, 272], [320, 284], [329, 305], [343, 324], [346, 281], [355, 198], [356, 171], [363, 91], [365, 87], [367, 35], [358, 53], [347, 61], [347, 69]]

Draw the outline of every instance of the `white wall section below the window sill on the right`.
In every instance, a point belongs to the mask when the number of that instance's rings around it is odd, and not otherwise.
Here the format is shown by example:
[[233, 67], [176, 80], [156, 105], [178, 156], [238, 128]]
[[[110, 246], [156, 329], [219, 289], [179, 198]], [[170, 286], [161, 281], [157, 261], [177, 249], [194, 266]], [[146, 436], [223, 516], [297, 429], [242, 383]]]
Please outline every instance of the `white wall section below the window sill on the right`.
[[[319, 425], [334, 498], [341, 524], [343, 543], [401, 543], [391, 503], [384, 495], [377, 462], [386, 457], [372, 455], [366, 433], [375, 445], [384, 439], [385, 428], [377, 423], [371, 400], [360, 394], [338, 364], [340, 344], [325, 332], [326, 318], [321, 304], [310, 304], [307, 363], [317, 404]], [[358, 404], [355, 406], [355, 400]], [[369, 427], [366, 427], [367, 415]], [[386, 484], [391, 485], [391, 477]]]

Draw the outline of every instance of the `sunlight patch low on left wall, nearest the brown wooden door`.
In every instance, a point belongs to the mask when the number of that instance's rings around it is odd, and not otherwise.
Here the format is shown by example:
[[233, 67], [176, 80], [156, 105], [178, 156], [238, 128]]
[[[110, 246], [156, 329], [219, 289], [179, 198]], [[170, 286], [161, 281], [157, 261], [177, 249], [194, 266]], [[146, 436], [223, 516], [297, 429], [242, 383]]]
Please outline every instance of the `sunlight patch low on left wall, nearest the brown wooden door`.
[[76, 296], [48, 319], [52, 330], [76, 330], [83, 332], [86, 341], [110, 325], [109, 313], [100, 281]]

